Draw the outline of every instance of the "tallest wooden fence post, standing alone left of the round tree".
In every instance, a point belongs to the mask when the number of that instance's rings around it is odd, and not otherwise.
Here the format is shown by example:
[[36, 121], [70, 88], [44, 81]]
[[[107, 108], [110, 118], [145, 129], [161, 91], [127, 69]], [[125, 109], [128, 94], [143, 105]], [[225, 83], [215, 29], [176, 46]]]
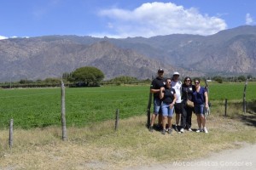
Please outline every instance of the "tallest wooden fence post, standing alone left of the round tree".
[[62, 140], [67, 140], [67, 127], [66, 127], [66, 108], [65, 108], [65, 86], [61, 80], [61, 127], [62, 127]]

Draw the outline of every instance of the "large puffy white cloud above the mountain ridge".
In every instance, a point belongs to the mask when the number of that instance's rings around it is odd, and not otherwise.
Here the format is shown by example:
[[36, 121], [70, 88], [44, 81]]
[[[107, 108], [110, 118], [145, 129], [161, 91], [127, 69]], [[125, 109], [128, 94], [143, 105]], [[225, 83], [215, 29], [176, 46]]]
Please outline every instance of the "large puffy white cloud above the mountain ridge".
[[[174, 3], [143, 3], [133, 10], [104, 9], [108, 29], [116, 37], [154, 37], [168, 34], [211, 35], [226, 29], [224, 20], [200, 14], [196, 8], [183, 8]], [[113, 33], [112, 33], [113, 34]]]

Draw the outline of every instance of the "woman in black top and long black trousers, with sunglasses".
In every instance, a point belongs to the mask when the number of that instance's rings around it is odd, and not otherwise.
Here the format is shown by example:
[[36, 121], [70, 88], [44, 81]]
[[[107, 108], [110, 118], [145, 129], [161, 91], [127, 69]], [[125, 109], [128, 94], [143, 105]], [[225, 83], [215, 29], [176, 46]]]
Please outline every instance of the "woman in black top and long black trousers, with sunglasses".
[[192, 119], [192, 111], [194, 111], [193, 107], [189, 107], [186, 105], [187, 100], [192, 100], [192, 94], [195, 91], [195, 86], [192, 85], [192, 81], [190, 77], [185, 77], [183, 85], [182, 85], [182, 100], [183, 100], [183, 115], [181, 118], [181, 130], [183, 133], [184, 129], [188, 131], [191, 130], [191, 119]]

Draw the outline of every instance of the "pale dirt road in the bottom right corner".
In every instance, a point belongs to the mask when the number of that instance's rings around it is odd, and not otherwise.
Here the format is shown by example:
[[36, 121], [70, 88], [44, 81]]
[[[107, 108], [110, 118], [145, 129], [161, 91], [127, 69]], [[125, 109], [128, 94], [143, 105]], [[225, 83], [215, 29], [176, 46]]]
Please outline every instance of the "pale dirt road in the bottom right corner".
[[195, 161], [174, 161], [169, 164], [129, 167], [125, 170], [254, 170], [256, 169], [256, 144], [241, 149], [224, 150]]

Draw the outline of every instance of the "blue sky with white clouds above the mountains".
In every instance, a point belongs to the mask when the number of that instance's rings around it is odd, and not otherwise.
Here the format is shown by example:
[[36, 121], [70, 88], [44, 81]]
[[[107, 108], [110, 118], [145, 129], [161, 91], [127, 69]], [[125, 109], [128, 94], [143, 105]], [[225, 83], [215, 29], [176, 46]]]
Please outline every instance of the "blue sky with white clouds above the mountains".
[[0, 39], [211, 35], [256, 25], [255, 0], [0, 0]]

